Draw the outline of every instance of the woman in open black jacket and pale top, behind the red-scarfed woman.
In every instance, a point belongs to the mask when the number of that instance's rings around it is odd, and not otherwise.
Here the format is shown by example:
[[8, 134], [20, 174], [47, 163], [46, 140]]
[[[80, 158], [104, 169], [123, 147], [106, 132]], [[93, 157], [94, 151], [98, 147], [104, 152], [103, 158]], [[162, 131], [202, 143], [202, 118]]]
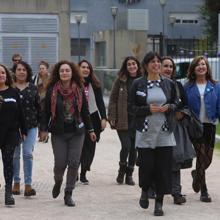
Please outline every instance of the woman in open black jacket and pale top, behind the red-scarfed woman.
[[[101, 83], [93, 72], [91, 63], [87, 60], [81, 60], [79, 67], [84, 78], [84, 91], [88, 101], [90, 118], [96, 133], [96, 142], [100, 139], [100, 133], [106, 127], [106, 110], [102, 95]], [[101, 117], [101, 119], [100, 119]], [[80, 181], [83, 184], [89, 184], [86, 178], [86, 172], [90, 171], [92, 164], [96, 142], [91, 141], [89, 133], [86, 133], [82, 154], [81, 154], [81, 173]]]

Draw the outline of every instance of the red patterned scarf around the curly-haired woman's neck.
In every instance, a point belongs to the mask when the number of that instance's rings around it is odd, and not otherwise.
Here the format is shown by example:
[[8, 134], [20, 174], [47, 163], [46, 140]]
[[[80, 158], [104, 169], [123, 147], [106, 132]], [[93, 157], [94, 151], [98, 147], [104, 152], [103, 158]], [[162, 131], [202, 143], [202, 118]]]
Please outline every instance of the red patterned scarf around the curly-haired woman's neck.
[[[58, 81], [52, 91], [51, 95], [51, 113], [52, 119], [55, 118], [56, 115], [56, 105], [57, 105], [57, 94], [58, 92], [63, 97], [63, 104], [66, 106], [69, 105], [69, 113], [74, 114], [74, 107], [77, 107], [78, 112], [81, 112], [82, 109], [82, 93], [80, 92], [80, 88], [76, 85], [76, 83], [72, 83], [69, 88], [63, 88], [61, 81]], [[76, 106], [74, 106], [74, 102], [76, 101]]]

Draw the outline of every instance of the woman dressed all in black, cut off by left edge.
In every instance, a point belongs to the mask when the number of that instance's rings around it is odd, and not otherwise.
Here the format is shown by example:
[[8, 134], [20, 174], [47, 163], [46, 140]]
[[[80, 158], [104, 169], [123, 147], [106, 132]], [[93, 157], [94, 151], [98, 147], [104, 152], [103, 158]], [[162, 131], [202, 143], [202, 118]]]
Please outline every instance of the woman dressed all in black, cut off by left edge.
[[13, 155], [27, 130], [19, 93], [12, 87], [9, 70], [0, 64], [0, 149], [5, 178], [5, 205], [14, 205], [12, 196]]

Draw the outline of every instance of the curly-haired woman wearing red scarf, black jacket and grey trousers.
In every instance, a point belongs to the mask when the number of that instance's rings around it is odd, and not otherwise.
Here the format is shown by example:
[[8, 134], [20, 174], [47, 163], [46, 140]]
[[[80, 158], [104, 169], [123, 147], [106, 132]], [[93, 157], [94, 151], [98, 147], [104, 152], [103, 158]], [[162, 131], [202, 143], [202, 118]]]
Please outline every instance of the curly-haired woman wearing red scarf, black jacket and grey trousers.
[[67, 60], [55, 64], [44, 108], [40, 136], [44, 140], [48, 131], [51, 132], [55, 180], [52, 196], [57, 198], [60, 194], [63, 175], [67, 169], [64, 203], [67, 206], [75, 206], [72, 191], [80, 164], [85, 127], [91, 141], [96, 141], [83, 89], [82, 74], [77, 65]]

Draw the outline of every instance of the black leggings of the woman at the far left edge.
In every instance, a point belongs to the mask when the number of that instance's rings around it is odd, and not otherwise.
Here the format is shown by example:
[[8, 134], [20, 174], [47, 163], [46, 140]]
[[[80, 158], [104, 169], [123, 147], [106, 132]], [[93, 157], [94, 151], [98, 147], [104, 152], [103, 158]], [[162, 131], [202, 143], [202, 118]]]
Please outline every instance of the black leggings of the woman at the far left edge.
[[3, 172], [5, 178], [5, 189], [12, 189], [13, 181], [13, 156], [14, 156], [15, 146], [4, 146], [1, 149], [2, 152], [2, 162], [3, 162]]

